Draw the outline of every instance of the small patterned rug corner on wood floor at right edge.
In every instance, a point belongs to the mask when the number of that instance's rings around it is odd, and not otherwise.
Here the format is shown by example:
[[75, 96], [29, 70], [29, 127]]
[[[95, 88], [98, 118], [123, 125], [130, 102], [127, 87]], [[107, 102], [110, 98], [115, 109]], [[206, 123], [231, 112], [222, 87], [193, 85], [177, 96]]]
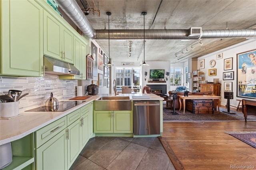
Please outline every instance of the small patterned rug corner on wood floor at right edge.
[[225, 132], [227, 134], [230, 134], [231, 136], [234, 136], [235, 138], [238, 138], [242, 142], [245, 142], [252, 147], [256, 148], [256, 131], [254, 132]]

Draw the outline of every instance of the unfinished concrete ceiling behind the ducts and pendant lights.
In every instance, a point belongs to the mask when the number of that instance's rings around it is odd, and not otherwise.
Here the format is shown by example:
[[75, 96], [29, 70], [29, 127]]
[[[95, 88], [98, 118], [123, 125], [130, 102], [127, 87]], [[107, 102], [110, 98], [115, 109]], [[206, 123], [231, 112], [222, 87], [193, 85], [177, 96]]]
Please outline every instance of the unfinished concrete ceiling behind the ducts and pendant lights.
[[[83, 9], [80, 0], [76, 0]], [[256, 0], [92, 0], [84, 2], [100, 11], [90, 11], [87, 19], [95, 30], [108, 30], [108, 16], [111, 12], [110, 30], [141, 29], [189, 29], [202, 30], [256, 29]], [[88, 2], [88, 3], [87, 3]], [[90, 8], [89, 8], [90, 9]], [[146, 40], [145, 61], [184, 62], [191, 57], [200, 57], [245, 41], [246, 38], [198, 40]], [[96, 40], [108, 54], [108, 40]], [[131, 57], [129, 42], [132, 42]], [[190, 45], [193, 44], [192, 50]], [[188, 52], [184, 51], [188, 47]], [[184, 54], [181, 53], [183, 50]], [[177, 54], [178, 57], [175, 57]], [[137, 62], [144, 60], [143, 40], [110, 40], [110, 58], [115, 62]]]

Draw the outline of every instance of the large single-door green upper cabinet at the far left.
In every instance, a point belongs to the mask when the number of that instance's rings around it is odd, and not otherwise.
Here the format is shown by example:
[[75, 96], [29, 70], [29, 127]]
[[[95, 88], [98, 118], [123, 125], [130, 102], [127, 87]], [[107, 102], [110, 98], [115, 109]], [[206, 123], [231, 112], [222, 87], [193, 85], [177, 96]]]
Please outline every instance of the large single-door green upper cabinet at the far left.
[[0, 75], [43, 76], [43, 8], [31, 0], [0, 4]]

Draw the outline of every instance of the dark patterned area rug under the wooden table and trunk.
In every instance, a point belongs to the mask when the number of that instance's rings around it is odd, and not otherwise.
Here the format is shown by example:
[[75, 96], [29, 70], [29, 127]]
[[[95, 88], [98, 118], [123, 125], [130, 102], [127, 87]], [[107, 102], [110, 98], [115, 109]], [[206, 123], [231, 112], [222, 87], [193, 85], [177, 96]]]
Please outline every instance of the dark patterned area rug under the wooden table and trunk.
[[[175, 112], [178, 113], [178, 115], [172, 115], [172, 109], [163, 108], [163, 121], [244, 121], [243, 113], [232, 111], [235, 114], [228, 114], [223, 113], [222, 111], [227, 111], [227, 109], [220, 108], [220, 113], [214, 111], [213, 114], [193, 114], [189, 111], [185, 111], [185, 114], [183, 114], [183, 109], [181, 111], [175, 109]], [[256, 121], [256, 116], [248, 115], [247, 121]]]

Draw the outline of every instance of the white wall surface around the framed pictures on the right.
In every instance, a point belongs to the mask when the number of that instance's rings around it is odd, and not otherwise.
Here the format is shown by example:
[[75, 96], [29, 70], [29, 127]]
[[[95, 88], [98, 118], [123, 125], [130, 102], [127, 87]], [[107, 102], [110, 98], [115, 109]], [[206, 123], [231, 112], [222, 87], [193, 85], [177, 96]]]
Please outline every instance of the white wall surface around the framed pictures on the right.
[[[236, 97], [237, 95], [237, 62], [236, 62], [236, 54], [242, 53], [244, 51], [249, 51], [256, 48], [256, 40], [246, 40], [244, 42], [238, 43], [236, 45], [232, 45], [230, 47], [226, 47], [214, 53], [210, 53], [208, 55], [204, 55], [202, 57], [198, 57], [198, 61], [204, 59], [204, 69], [200, 69], [205, 73], [204, 80], [212, 82], [213, 79], [218, 78], [221, 83], [221, 105], [226, 105], [227, 99], [224, 99], [224, 80], [223, 80], [223, 72], [234, 71], [234, 80], [225, 80], [227, 82], [232, 83], [232, 89], [234, 94], [234, 99], [230, 100], [230, 105], [236, 107], [238, 105], [238, 101], [236, 99], [242, 99]], [[219, 53], [223, 53], [222, 59], [216, 59], [216, 55]], [[233, 69], [232, 70], [224, 70], [224, 59], [233, 58]], [[214, 59], [216, 61], [216, 65], [214, 67], [209, 66], [209, 61]], [[208, 69], [216, 68], [217, 74], [216, 76], [208, 76]]]

